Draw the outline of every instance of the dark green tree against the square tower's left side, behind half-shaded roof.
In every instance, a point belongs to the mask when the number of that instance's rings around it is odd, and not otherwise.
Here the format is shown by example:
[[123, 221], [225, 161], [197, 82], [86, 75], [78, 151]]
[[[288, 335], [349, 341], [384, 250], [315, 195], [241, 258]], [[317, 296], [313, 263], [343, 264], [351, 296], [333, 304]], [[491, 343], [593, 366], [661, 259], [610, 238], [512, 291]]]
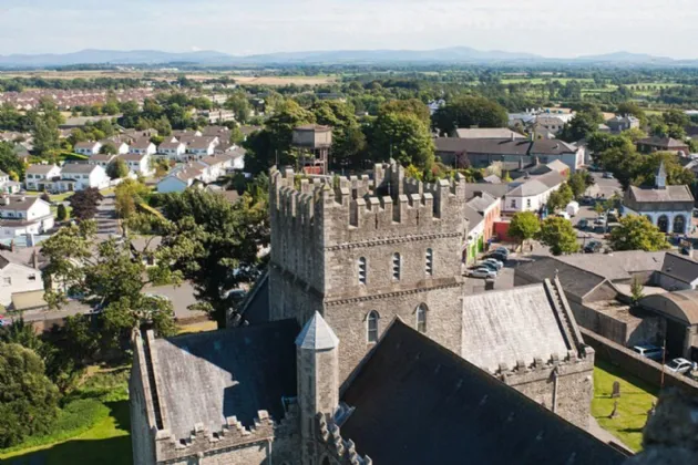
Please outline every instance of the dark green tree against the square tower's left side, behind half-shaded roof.
[[[269, 244], [268, 178], [258, 176], [239, 202], [198, 189], [168, 194], [163, 199], [165, 244], [191, 244], [195, 252], [182, 257], [174, 268], [191, 279], [206, 311], [219, 328], [235, 308], [229, 293], [242, 283], [254, 282], [265, 259], [259, 250]], [[137, 226], [133, 226], [137, 227]], [[142, 228], [142, 227], [141, 227]]]

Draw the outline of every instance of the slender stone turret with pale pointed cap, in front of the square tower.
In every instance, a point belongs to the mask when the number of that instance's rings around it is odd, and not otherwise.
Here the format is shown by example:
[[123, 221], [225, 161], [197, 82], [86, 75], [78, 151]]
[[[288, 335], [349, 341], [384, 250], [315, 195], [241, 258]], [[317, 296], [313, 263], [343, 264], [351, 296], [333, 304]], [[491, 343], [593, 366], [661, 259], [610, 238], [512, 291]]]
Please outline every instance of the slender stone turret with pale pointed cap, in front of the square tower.
[[332, 422], [339, 404], [339, 339], [316, 312], [296, 339], [302, 463], [317, 463], [318, 416]]

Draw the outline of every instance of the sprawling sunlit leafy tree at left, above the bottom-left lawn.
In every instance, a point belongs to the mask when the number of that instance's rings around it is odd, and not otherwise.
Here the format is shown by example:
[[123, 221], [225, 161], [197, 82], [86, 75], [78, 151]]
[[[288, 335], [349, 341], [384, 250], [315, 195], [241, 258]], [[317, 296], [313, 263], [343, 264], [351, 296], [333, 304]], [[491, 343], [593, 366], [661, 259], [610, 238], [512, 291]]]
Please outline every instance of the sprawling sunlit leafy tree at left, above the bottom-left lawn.
[[[148, 239], [150, 242], [151, 239]], [[168, 299], [144, 292], [151, 285], [182, 281], [182, 272], [172, 264], [192, 255], [189, 245], [161, 244], [156, 249], [134, 252], [130, 242], [107, 239], [99, 241], [96, 224], [82, 221], [59, 229], [42, 242], [48, 258], [44, 268], [44, 299], [51, 308], [61, 308], [66, 296], [97, 307], [103, 343], [129, 340], [135, 328], [152, 328], [160, 335], [176, 332], [174, 312]], [[153, 267], [144, 265], [145, 255], [153, 257]]]

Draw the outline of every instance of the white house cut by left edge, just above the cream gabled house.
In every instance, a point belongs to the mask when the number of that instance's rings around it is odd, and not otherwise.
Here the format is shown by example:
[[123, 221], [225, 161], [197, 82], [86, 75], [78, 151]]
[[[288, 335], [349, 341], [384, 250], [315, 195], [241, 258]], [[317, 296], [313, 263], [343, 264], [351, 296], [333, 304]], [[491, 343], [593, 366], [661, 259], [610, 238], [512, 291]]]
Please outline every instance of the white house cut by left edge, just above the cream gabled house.
[[39, 235], [53, 228], [51, 206], [39, 197], [0, 197], [0, 237]]

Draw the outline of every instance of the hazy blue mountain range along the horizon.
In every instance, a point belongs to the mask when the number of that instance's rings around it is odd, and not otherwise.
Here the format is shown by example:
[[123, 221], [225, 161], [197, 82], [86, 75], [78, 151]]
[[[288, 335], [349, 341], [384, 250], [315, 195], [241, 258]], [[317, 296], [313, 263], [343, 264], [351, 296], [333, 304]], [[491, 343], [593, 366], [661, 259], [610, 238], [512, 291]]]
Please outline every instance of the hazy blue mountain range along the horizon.
[[82, 50], [64, 54], [0, 55], [0, 68], [66, 66], [76, 64], [160, 65], [187, 63], [201, 65], [269, 65], [269, 64], [599, 64], [599, 65], [674, 65], [698, 66], [698, 60], [674, 60], [666, 56], [616, 52], [575, 59], [545, 58], [532, 53], [481, 51], [469, 46], [434, 50], [339, 50], [281, 52], [247, 56], [216, 51], [171, 53], [157, 50]]

